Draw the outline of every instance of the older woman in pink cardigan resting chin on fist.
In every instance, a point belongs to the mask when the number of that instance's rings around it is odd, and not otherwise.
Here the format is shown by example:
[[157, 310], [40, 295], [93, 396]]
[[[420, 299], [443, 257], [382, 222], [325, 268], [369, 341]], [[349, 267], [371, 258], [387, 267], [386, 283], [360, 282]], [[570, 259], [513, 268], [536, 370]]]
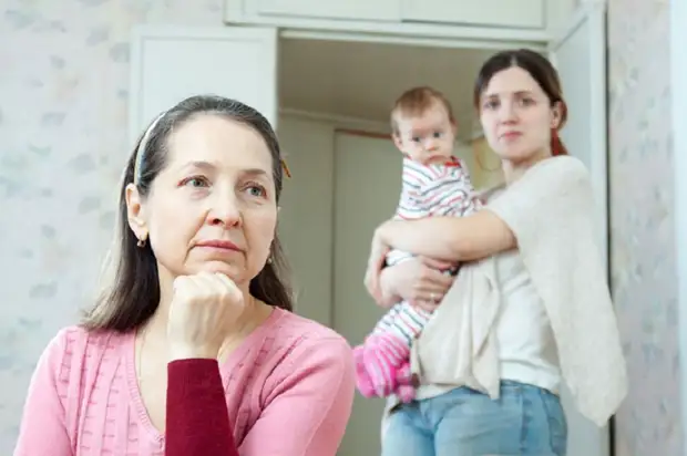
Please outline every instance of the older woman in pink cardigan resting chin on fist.
[[352, 357], [290, 313], [281, 179], [249, 106], [194, 96], [154, 120], [124, 172], [112, 282], [42, 354], [17, 456], [336, 454]]

